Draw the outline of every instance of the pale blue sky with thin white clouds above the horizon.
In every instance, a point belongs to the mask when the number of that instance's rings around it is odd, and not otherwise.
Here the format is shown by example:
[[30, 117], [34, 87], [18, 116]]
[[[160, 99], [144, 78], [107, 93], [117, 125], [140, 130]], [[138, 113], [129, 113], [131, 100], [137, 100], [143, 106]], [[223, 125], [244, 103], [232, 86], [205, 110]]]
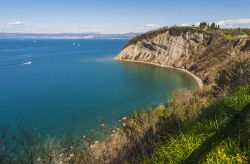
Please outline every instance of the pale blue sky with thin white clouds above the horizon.
[[0, 0], [0, 32], [128, 33], [201, 21], [250, 28], [250, 0]]

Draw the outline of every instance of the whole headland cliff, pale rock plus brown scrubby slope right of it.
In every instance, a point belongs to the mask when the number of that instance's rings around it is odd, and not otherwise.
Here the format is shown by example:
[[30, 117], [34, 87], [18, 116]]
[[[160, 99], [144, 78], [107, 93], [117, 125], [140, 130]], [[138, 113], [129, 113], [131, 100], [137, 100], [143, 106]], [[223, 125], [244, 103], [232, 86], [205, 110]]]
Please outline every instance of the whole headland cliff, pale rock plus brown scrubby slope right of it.
[[115, 59], [183, 68], [205, 84], [212, 83], [214, 71], [232, 62], [237, 54], [249, 54], [246, 38], [230, 41], [219, 33], [192, 28], [175, 27], [143, 35], [130, 41]]

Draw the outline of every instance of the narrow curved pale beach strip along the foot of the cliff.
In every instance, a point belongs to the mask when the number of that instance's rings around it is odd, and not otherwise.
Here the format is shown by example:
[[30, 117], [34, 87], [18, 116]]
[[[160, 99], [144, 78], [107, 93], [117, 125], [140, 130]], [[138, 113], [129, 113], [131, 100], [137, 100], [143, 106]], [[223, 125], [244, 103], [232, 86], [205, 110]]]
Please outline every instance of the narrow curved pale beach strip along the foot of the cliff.
[[117, 60], [117, 61], [120, 61], [120, 62], [141, 63], [141, 64], [154, 65], [154, 66], [162, 67], [162, 68], [176, 69], [176, 70], [185, 72], [185, 73], [187, 73], [188, 75], [192, 76], [193, 79], [194, 79], [194, 80], [196, 81], [196, 83], [198, 84], [199, 89], [203, 89], [203, 87], [204, 87], [203, 81], [202, 81], [199, 77], [197, 77], [195, 74], [193, 74], [192, 72], [189, 72], [189, 71], [186, 70], [186, 69], [175, 68], [175, 67], [173, 67], [173, 66], [168, 66], [168, 65], [160, 65], [160, 64], [156, 64], [156, 63], [152, 63], [152, 62], [134, 61], [134, 60], [127, 60], [127, 59], [125, 60], [125, 59], [117, 59], [117, 58], [114, 58], [114, 60]]

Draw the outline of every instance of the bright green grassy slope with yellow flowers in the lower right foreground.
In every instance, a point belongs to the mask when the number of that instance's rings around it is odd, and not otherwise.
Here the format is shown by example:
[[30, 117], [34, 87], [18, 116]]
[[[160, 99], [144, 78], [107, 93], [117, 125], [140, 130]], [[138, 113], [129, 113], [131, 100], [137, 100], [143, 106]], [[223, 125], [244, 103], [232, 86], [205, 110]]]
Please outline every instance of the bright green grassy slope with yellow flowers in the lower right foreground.
[[249, 152], [250, 89], [245, 87], [166, 135], [144, 163], [247, 163]]

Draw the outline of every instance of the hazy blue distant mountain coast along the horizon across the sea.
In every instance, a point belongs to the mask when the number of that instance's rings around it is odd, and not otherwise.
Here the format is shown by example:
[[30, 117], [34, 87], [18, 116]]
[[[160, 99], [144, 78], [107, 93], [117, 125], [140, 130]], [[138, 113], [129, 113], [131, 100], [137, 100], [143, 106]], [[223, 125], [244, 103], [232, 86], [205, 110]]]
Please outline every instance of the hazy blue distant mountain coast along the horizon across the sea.
[[139, 33], [100, 34], [100, 33], [0, 33], [0, 39], [130, 39]]

